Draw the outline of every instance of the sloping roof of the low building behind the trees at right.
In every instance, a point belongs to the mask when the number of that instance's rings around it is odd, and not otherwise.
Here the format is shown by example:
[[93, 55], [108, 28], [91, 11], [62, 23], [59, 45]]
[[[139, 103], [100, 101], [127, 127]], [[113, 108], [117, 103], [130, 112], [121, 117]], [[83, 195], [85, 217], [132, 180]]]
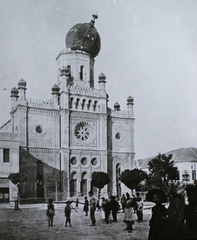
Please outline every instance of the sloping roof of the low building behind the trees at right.
[[[172, 154], [172, 160], [175, 163], [180, 162], [197, 162], [197, 148], [179, 148], [176, 150], [171, 150], [165, 153], [166, 155]], [[148, 168], [148, 163], [157, 155], [136, 160], [137, 165], [141, 169]]]

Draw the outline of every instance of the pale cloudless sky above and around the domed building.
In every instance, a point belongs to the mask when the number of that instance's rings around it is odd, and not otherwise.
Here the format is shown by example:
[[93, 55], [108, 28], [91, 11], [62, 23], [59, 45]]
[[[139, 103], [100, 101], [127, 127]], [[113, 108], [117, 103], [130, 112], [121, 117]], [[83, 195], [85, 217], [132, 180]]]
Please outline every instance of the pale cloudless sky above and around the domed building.
[[0, 0], [0, 126], [21, 78], [27, 98], [52, 98], [67, 32], [95, 13], [95, 88], [103, 72], [110, 108], [134, 98], [135, 159], [196, 148], [196, 0]]

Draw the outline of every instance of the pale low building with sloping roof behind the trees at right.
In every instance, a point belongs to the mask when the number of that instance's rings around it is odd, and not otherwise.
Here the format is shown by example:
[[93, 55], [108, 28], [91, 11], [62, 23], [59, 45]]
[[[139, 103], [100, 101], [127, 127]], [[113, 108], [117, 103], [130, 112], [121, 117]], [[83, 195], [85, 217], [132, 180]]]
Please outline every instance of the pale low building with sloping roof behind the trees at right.
[[[193, 184], [197, 180], [197, 148], [180, 148], [165, 153], [172, 154], [172, 160], [179, 171], [179, 180]], [[136, 167], [148, 172], [148, 162], [156, 156], [136, 160]]]

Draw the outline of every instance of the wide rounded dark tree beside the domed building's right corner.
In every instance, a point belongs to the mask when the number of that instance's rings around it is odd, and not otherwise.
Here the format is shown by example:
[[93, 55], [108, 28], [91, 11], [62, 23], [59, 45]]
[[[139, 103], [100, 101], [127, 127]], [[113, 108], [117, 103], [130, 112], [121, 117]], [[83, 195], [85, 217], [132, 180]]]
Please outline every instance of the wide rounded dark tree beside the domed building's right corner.
[[140, 189], [141, 184], [146, 180], [147, 173], [141, 169], [126, 169], [120, 175], [120, 181], [124, 183], [129, 189]]

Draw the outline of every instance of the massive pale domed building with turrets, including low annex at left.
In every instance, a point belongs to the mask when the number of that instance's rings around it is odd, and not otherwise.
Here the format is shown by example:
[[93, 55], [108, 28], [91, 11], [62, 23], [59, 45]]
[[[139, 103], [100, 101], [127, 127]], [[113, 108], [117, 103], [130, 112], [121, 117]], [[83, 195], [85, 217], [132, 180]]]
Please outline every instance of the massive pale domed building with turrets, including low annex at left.
[[125, 99], [126, 111], [118, 103], [110, 109], [103, 73], [99, 89], [94, 88], [94, 58], [101, 43], [94, 27], [97, 16], [93, 17], [67, 33], [66, 49], [56, 58], [58, 80], [51, 89], [52, 99], [27, 99], [23, 79], [11, 90], [11, 119], [0, 128], [0, 193], [5, 185], [10, 200], [16, 197], [16, 187], [7, 176], [18, 171], [28, 178], [21, 198], [58, 194], [58, 200], [64, 200], [90, 190], [96, 194], [91, 184], [95, 171], [106, 172], [111, 179], [103, 194], [120, 196], [126, 191], [119, 176], [135, 165], [134, 100]]

